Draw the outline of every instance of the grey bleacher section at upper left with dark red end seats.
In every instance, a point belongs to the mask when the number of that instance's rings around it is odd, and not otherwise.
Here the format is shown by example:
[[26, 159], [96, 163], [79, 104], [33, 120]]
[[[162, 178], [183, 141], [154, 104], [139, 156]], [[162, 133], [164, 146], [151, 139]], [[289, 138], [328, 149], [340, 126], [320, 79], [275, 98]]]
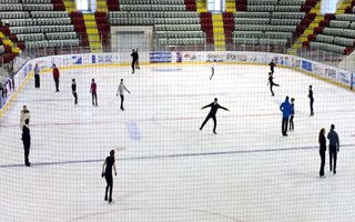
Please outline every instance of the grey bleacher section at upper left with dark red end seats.
[[[60, 1], [1, 0], [0, 21], [21, 49], [79, 47], [79, 34]], [[54, 3], [52, 3], [54, 2]], [[7, 30], [8, 29], [8, 30]]]

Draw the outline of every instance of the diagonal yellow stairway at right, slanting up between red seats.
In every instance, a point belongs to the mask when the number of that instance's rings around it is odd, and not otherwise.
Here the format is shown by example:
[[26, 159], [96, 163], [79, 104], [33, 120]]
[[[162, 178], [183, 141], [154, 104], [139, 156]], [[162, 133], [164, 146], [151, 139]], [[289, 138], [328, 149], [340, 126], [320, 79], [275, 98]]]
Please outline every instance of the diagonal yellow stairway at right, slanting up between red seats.
[[[302, 48], [302, 43], [308, 39], [308, 36], [314, 34], [314, 29], [320, 27], [320, 22], [323, 21], [324, 16], [321, 14], [321, 1], [311, 8], [308, 14], [316, 14], [312, 22], [307, 26], [307, 28], [303, 31], [303, 33], [297, 38], [296, 41], [292, 44], [292, 47], [287, 50], [288, 54], [296, 54], [297, 50]], [[308, 17], [310, 18], [310, 17]]]

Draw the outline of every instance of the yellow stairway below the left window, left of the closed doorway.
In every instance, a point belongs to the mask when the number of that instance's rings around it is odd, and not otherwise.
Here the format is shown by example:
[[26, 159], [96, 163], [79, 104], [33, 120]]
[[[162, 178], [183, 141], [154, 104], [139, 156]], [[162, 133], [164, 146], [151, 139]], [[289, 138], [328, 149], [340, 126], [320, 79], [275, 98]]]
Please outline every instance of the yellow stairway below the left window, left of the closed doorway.
[[102, 43], [100, 41], [95, 16], [93, 13], [85, 13], [83, 14], [83, 18], [91, 52], [102, 52]]

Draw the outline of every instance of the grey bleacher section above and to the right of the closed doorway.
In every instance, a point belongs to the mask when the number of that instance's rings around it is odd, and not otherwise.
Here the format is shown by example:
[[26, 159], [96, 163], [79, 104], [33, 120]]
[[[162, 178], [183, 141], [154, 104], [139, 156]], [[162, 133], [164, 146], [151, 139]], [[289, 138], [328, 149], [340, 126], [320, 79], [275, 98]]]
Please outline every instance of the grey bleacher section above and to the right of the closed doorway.
[[164, 46], [203, 46], [206, 33], [193, 0], [120, 0], [110, 11], [111, 26], [153, 26], [154, 42]]

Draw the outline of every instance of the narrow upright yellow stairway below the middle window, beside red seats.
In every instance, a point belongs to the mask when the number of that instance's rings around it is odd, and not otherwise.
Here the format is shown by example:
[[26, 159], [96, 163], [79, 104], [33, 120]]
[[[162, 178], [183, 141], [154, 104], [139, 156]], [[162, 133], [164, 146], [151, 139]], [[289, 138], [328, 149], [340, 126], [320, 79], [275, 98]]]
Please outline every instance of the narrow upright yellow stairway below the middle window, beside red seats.
[[214, 51], [225, 51], [225, 37], [222, 13], [212, 14]]

